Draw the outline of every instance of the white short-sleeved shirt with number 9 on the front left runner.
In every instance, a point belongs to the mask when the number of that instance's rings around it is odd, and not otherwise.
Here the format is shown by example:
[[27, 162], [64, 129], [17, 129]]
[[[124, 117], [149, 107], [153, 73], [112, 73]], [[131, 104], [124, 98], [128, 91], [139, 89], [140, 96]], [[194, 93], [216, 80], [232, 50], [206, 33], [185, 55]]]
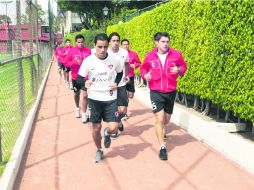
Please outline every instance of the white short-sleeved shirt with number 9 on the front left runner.
[[120, 59], [110, 54], [104, 60], [97, 58], [95, 54], [84, 59], [78, 74], [93, 82], [87, 89], [88, 98], [98, 101], [115, 100], [117, 90], [111, 90], [110, 85], [115, 82], [115, 73], [122, 72], [120, 66]]

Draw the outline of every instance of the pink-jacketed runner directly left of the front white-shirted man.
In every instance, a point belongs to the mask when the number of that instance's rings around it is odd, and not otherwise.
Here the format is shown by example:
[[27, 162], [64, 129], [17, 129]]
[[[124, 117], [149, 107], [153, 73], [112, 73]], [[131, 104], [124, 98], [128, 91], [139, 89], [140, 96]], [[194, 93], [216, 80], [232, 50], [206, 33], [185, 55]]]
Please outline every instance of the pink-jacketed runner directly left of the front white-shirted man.
[[76, 80], [78, 78], [78, 71], [81, 66], [81, 63], [83, 60], [88, 57], [91, 54], [90, 48], [84, 46], [84, 36], [78, 34], [75, 37], [76, 46], [71, 48], [70, 51], [68, 51], [66, 57], [65, 57], [65, 64], [67, 67], [70, 67], [71, 69], [71, 77], [72, 77], [72, 85], [74, 90], [74, 101], [76, 105], [75, 109], [75, 116], [77, 118], [80, 117], [80, 108], [79, 108], [79, 102], [80, 102], [80, 90], [81, 90], [81, 109], [82, 109], [82, 122], [87, 123], [88, 122], [88, 116], [86, 114], [87, 111], [87, 92], [86, 88], [83, 86], [82, 88], [76, 83]]

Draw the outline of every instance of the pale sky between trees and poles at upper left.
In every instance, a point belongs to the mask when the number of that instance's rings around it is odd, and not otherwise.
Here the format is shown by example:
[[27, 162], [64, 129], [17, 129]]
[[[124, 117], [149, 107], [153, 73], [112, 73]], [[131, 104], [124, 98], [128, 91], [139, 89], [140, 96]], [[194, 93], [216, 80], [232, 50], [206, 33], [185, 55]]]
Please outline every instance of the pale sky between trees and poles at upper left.
[[[25, 13], [25, 4], [26, 0], [20, 0], [20, 6], [21, 6], [21, 14]], [[32, 0], [33, 3], [35, 0]], [[5, 3], [5, 2], [11, 2], [11, 3]], [[55, 0], [50, 0], [52, 7], [53, 7], [53, 13], [57, 13], [57, 4]], [[48, 0], [37, 0], [37, 3], [42, 6], [42, 9], [47, 13], [48, 11]], [[6, 6], [7, 5], [7, 6]], [[16, 0], [0, 0], [0, 14], [1, 15], [7, 15], [11, 17], [12, 24], [16, 23]]]

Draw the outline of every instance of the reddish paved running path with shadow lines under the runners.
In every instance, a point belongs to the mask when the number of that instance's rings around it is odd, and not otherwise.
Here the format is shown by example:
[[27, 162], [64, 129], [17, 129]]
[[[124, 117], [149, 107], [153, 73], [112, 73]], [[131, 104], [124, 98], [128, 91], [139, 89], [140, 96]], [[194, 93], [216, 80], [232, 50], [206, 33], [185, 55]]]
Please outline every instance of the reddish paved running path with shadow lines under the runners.
[[137, 99], [130, 102], [124, 133], [95, 164], [91, 127], [73, 110], [73, 92], [53, 65], [15, 190], [254, 189], [254, 176], [173, 123], [169, 160], [160, 161], [150, 108]]

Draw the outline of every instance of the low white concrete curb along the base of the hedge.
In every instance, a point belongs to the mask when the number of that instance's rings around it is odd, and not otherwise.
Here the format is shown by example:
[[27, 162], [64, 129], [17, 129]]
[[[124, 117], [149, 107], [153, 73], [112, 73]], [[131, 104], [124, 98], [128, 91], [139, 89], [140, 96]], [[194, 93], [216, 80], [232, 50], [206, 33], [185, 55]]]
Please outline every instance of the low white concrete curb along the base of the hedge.
[[[147, 88], [136, 88], [135, 97], [151, 107]], [[222, 129], [223, 123], [201, 117], [193, 109], [178, 104], [175, 104], [171, 121], [254, 174], [254, 143], [250, 140], [230, 134]]]

